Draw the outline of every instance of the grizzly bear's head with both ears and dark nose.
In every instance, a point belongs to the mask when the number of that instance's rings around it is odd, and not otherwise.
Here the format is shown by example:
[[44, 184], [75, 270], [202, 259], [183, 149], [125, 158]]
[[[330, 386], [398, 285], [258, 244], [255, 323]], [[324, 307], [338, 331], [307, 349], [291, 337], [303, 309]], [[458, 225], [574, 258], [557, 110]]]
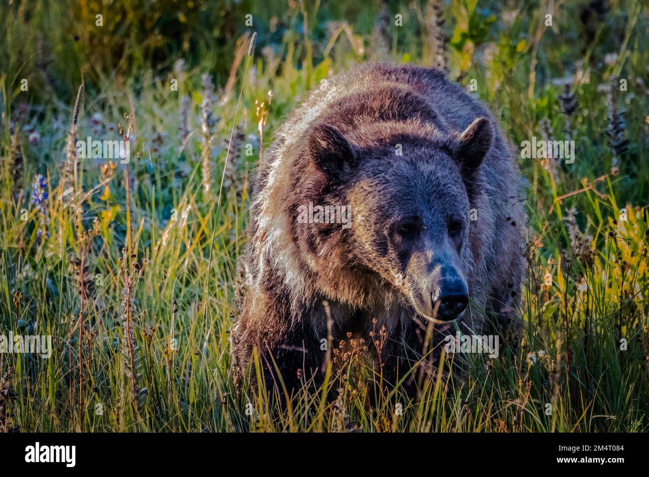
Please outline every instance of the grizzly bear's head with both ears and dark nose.
[[455, 134], [417, 121], [313, 127], [306, 156], [321, 177], [317, 197], [351, 212], [351, 226], [336, 232], [345, 265], [379, 275], [427, 319], [460, 317], [471, 209], [491, 140], [484, 117]]

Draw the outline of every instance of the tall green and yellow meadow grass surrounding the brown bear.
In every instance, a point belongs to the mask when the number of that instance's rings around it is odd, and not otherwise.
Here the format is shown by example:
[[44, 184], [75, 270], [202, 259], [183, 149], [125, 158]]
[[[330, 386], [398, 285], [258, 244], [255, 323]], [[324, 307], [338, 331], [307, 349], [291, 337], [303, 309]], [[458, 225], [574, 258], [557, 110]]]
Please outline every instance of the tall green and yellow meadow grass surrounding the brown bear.
[[[495, 1], [445, 2], [450, 77], [467, 90], [477, 80], [474, 93], [501, 118], [515, 145], [540, 139], [547, 125], [563, 140], [567, 123], [576, 143], [574, 164], [554, 170], [520, 159], [530, 212], [520, 343], [494, 360], [445, 360], [439, 373], [421, 378], [415, 402], [381, 389], [380, 376], [358, 353], [380, 343], [348, 343], [353, 352], [337, 354], [342, 371], [330, 369], [325, 389], [303, 389], [291, 406], [245, 386], [237, 392], [230, 372], [234, 269], [245, 244], [247, 182], [260, 154], [258, 123], [266, 119], [265, 148], [310, 88], [376, 59], [378, 8], [226, 2], [226, 19], [217, 27], [216, 19], [201, 17], [199, 6], [186, 7], [189, 26], [155, 40], [157, 27], [182, 26], [185, 7], [158, 15], [125, 3], [122, 21], [151, 29], [140, 38], [111, 23], [110, 12], [104, 14], [108, 29], [99, 34], [88, 20], [95, 18], [92, 5], [54, 4], [2, 7], [8, 42], [0, 47], [0, 334], [51, 335], [54, 343], [47, 360], [0, 355], [1, 373], [12, 369], [0, 388], [15, 393], [12, 399], [0, 393], [0, 430], [649, 429], [646, 3], [612, 0], [610, 10], [601, 19], [591, 16], [585, 27], [579, 5], [555, 1], [553, 25], [546, 28], [545, 1], [521, 2], [517, 15]], [[21, 14], [5, 15], [12, 9]], [[254, 17], [251, 28], [245, 27], [247, 12]], [[394, 3], [388, 18], [398, 13], [404, 26], [390, 27], [387, 54], [396, 62], [430, 64], [425, 2], [415, 9]], [[340, 24], [328, 21], [347, 21], [349, 28], [332, 36]], [[38, 31], [49, 53], [41, 51]], [[247, 56], [247, 40], [241, 40], [236, 62], [235, 40], [245, 31], [259, 32], [255, 55]], [[80, 39], [70, 46], [65, 42], [72, 34]], [[147, 39], [147, 47], [136, 47]], [[272, 55], [263, 47], [272, 47]], [[43, 55], [51, 66], [43, 66]], [[175, 67], [181, 57], [184, 69]], [[214, 124], [201, 130], [201, 76], [211, 74], [226, 88], [233, 62], [227, 101], [219, 103], [217, 88]], [[607, 97], [602, 87], [614, 77], [616, 84], [626, 80], [626, 91]], [[27, 92], [20, 89], [23, 78]], [[124, 115], [132, 114], [126, 120], [134, 125], [128, 170], [102, 171], [107, 161], [82, 159], [76, 173], [62, 175], [82, 78], [77, 138], [117, 139], [117, 123], [125, 125]], [[570, 116], [562, 114], [559, 98], [566, 78], [577, 101]], [[626, 110], [617, 138], [629, 142], [617, 159], [606, 134], [611, 97]], [[93, 124], [96, 113], [103, 117]], [[233, 130], [228, 167], [234, 171], [223, 180]], [[37, 174], [45, 177], [48, 194], [40, 209], [31, 201]], [[58, 199], [69, 187], [73, 193]], [[40, 237], [43, 220], [49, 236]], [[461, 359], [470, 362], [458, 371]], [[338, 393], [334, 402], [324, 399], [329, 391]]]

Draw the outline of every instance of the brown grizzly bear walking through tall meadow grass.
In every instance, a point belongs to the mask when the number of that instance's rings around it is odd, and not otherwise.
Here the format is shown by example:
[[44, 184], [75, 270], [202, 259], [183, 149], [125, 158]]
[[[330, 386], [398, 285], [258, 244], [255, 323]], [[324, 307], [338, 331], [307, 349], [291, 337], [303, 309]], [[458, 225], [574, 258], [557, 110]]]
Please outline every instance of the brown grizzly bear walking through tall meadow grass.
[[256, 349], [266, 385], [295, 390], [329, 347], [385, 327], [377, 361], [397, 384], [456, 329], [517, 321], [521, 184], [498, 121], [442, 71], [365, 64], [321, 82], [257, 169], [236, 376]]

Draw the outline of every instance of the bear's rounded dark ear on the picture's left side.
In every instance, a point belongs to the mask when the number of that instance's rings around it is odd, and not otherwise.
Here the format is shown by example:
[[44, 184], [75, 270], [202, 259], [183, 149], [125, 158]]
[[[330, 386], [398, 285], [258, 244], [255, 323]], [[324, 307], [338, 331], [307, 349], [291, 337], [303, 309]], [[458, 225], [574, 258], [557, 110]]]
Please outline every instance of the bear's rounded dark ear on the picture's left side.
[[315, 165], [330, 178], [339, 177], [357, 165], [354, 147], [332, 125], [317, 125], [311, 130], [308, 151]]

